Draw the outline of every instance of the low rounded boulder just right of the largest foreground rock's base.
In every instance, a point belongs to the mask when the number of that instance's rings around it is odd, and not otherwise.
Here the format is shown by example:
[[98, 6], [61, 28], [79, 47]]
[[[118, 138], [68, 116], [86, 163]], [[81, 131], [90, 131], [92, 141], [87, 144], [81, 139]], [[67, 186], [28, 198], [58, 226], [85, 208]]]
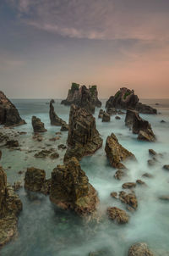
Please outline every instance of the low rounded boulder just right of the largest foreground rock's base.
[[107, 209], [107, 214], [111, 220], [114, 220], [118, 224], [128, 223], [129, 216], [123, 209], [118, 209], [117, 207], [109, 207]]

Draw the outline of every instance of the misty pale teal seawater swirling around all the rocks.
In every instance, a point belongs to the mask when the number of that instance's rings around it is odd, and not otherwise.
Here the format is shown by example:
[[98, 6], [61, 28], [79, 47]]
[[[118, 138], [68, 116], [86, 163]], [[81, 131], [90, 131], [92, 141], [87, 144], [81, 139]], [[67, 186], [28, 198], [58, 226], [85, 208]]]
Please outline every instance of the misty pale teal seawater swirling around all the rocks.
[[[19, 170], [26, 170], [34, 166], [46, 170], [49, 178], [57, 164], [63, 163], [65, 150], [58, 150], [59, 159], [35, 159], [34, 153], [27, 153], [29, 149], [41, 150], [46, 144], [57, 148], [57, 145], [66, 143], [68, 132], [63, 131], [60, 140], [50, 142], [49, 139], [56, 136], [60, 127], [50, 125], [49, 100], [13, 100], [19, 113], [27, 122], [14, 128], [16, 131], [26, 131], [26, 135], [19, 138], [22, 151], [10, 151], [3, 148], [1, 164], [8, 176], [8, 182], [24, 180], [24, 174], [19, 175]], [[60, 104], [60, 100], [54, 103], [57, 114], [68, 122], [69, 108]], [[106, 101], [102, 101], [103, 106]], [[100, 132], [104, 144], [94, 155], [85, 157], [81, 161], [81, 167], [88, 175], [90, 183], [95, 187], [100, 198], [98, 211], [101, 220], [98, 223], [85, 223], [76, 214], [57, 209], [49, 198], [39, 194], [19, 190], [19, 197], [23, 202], [23, 211], [19, 214], [19, 237], [9, 242], [0, 254], [2, 256], [87, 256], [90, 252], [107, 248], [109, 256], [128, 255], [128, 248], [134, 242], [146, 242], [157, 255], [165, 255], [169, 252], [169, 203], [161, 201], [158, 197], [169, 196], [169, 173], [162, 169], [164, 164], [169, 164], [169, 100], [144, 100], [155, 107], [161, 114], [141, 114], [145, 120], [149, 120], [157, 137], [157, 142], [139, 142], [137, 136], [124, 125], [125, 115], [121, 120], [112, 116], [110, 123], [102, 123], [97, 118], [99, 109], [95, 111], [96, 127]], [[155, 106], [155, 103], [159, 103]], [[46, 125], [47, 132], [43, 135], [43, 142], [32, 140], [31, 116], [41, 118]], [[165, 120], [166, 123], [161, 123]], [[119, 142], [135, 154], [137, 162], [128, 162], [128, 176], [117, 181], [113, 175], [114, 170], [106, 159], [104, 150], [106, 136], [115, 133]], [[155, 166], [150, 167], [147, 160], [150, 159], [149, 148], [157, 153], [163, 153]], [[11, 166], [11, 168], [9, 168]], [[152, 178], [142, 177], [144, 173], [150, 173]], [[128, 181], [141, 179], [147, 186], [136, 186], [135, 193], [139, 207], [134, 213], [128, 212], [130, 220], [127, 225], [117, 225], [106, 216], [108, 206], [117, 206], [126, 210], [126, 205], [110, 197], [111, 192], [122, 191], [122, 184]], [[106, 255], [106, 254], [105, 254]], [[166, 254], [169, 255], [169, 254]]]

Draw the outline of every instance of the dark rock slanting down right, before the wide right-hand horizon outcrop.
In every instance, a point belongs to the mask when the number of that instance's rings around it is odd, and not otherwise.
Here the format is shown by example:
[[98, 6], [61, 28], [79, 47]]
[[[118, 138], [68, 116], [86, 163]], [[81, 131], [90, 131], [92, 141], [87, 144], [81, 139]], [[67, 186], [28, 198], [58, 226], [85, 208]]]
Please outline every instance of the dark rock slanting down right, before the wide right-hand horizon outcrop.
[[126, 113], [125, 124], [132, 129], [134, 134], [139, 134], [138, 139], [148, 142], [155, 142], [155, 134], [152, 131], [148, 121], [139, 116], [139, 112], [134, 109], [128, 109]]

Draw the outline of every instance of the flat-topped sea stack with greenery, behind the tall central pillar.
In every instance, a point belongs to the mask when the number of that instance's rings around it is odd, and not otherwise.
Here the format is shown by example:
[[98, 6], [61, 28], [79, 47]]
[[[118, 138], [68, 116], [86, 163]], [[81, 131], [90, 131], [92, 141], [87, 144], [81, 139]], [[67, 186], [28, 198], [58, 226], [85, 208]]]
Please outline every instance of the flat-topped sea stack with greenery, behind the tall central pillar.
[[87, 88], [86, 86], [79, 86], [79, 84], [72, 83], [71, 89], [68, 90], [67, 99], [63, 100], [61, 104], [74, 104], [93, 114], [95, 113], [95, 107], [101, 108], [97, 86], [89, 86], [89, 88]]

